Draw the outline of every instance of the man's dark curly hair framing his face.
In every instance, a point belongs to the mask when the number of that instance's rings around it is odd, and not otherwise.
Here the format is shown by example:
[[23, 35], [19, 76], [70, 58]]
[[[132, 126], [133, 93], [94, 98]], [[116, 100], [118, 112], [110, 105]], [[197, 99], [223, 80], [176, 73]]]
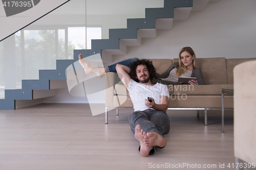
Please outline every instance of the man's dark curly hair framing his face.
[[136, 74], [136, 68], [138, 65], [145, 65], [147, 67], [147, 70], [149, 72], [149, 76], [150, 76], [150, 80], [152, 80], [154, 77], [155, 77], [155, 74], [156, 74], [156, 68], [154, 67], [154, 65], [152, 64], [152, 61], [149, 61], [149, 60], [145, 60], [145, 59], [140, 59], [140, 60], [137, 60], [133, 63], [130, 64], [130, 77], [136, 81], [136, 82], [139, 82], [138, 78], [137, 77], [137, 74]]

